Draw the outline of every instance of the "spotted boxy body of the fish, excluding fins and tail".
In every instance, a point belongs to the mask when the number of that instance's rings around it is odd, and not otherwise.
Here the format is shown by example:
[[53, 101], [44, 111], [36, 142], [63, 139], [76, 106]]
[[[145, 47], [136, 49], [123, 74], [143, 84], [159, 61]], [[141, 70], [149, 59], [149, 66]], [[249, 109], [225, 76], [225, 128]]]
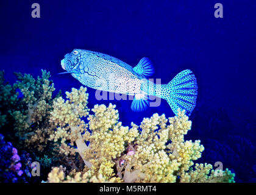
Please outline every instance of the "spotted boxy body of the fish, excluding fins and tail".
[[65, 55], [65, 69], [74, 71], [72, 76], [83, 85], [113, 93], [139, 93], [143, 76], [135, 73], [132, 66], [107, 54], [82, 49], [76, 51], [79, 51], [77, 59], [73, 59], [74, 54]]

